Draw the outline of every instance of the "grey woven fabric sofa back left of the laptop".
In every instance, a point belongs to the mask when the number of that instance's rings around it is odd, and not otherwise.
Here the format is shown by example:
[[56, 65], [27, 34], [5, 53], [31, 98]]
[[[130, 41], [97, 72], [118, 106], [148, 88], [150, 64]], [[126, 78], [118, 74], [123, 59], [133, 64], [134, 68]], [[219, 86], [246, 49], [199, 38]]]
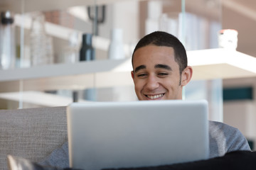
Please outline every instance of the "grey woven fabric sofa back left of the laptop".
[[0, 169], [7, 155], [40, 162], [68, 140], [66, 107], [0, 110]]

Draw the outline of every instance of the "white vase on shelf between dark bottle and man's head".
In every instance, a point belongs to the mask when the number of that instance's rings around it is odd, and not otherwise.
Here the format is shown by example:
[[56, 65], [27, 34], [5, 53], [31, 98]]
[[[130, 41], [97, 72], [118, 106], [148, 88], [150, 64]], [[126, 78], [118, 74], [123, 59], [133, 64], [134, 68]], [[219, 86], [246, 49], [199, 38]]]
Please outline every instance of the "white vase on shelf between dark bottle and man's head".
[[111, 31], [111, 41], [108, 50], [110, 60], [124, 59], [124, 45], [122, 40], [122, 29], [114, 28]]

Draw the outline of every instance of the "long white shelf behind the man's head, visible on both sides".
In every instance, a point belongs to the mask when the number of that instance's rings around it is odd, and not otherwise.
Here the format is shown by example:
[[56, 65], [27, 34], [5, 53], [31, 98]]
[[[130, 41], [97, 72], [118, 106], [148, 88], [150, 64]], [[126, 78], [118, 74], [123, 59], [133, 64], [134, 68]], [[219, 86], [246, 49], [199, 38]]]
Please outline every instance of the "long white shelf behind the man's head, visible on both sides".
[[[256, 77], [256, 58], [237, 51], [188, 51], [193, 80]], [[0, 71], [0, 93], [132, 86], [131, 58], [52, 64]]]

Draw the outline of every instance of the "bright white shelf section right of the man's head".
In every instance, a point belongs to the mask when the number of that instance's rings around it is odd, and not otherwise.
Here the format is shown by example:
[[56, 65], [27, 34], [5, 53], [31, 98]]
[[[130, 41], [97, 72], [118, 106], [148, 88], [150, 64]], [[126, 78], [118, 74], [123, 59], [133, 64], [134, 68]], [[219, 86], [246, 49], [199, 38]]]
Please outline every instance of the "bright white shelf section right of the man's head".
[[188, 51], [193, 79], [232, 79], [256, 76], [256, 58], [223, 48]]

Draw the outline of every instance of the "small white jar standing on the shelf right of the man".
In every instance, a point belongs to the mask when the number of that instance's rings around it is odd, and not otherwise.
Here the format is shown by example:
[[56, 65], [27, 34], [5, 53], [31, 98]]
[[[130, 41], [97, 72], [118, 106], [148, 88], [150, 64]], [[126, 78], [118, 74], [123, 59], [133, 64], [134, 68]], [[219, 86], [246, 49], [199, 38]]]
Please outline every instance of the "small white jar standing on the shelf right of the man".
[[236, 50], [238, 47], [238, 30], [224, 29], [218, 33], [219, 47]]

